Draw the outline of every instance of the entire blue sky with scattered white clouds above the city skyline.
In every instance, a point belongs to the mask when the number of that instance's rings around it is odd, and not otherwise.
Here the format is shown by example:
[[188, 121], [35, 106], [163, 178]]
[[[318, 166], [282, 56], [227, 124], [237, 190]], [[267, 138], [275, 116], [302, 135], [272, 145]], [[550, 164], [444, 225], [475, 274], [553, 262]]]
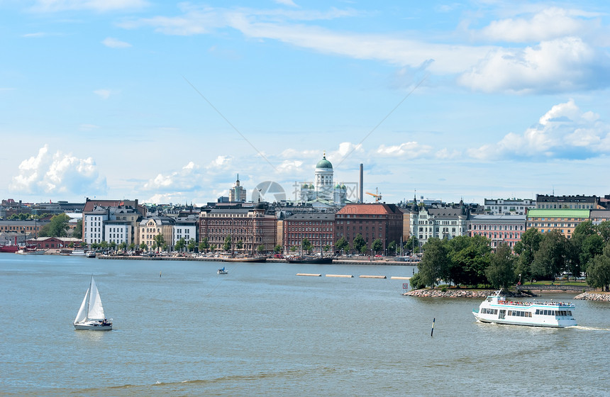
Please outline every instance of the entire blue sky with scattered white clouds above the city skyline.
[[0, 196], [291, 198], [324, 151], [387, 202], [610, 194], [609, 11], [0, 0]]

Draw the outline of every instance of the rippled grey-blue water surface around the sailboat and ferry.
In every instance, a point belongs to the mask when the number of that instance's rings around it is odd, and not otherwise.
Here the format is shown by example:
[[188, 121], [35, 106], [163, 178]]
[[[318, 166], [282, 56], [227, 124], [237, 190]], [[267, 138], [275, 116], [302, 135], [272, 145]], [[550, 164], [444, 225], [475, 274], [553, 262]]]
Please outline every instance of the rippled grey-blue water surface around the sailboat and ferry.
[[[478, 300], [402, 296], [412, 267], [218, 267], [0, 254], [0, 396], [610, 393], [610, 303], [575, 301], [576, 328], [490, 325]], [[111, 332], [72, 327], [91, 274]]]

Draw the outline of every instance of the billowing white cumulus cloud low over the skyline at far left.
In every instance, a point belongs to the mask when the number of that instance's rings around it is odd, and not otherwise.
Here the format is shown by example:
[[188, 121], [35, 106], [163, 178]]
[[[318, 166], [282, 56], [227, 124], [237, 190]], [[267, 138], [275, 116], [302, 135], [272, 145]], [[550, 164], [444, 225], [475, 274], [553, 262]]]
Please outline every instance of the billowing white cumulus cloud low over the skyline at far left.
[[38, 155], [23, 160], [19, 173], [13, 177], [9, 190], [20, 194], [85, 195], [91, 191], [104, 193], [106, 179], [99, 175], [91, 157], [79, 159], [60, 151], [50, 154], [48, 145]]

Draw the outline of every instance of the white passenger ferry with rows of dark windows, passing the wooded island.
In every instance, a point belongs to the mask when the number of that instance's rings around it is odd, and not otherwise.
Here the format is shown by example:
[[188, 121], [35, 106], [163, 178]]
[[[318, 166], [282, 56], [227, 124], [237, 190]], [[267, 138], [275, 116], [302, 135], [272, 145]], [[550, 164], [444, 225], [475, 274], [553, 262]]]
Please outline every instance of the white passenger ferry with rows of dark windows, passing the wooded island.
[[498, 291], [481, 303], [472, 314], [482, 323], [528, 325], [531, 327], [572, 327], [574, 305], [565, 302], [514, 302], [506, 301]]

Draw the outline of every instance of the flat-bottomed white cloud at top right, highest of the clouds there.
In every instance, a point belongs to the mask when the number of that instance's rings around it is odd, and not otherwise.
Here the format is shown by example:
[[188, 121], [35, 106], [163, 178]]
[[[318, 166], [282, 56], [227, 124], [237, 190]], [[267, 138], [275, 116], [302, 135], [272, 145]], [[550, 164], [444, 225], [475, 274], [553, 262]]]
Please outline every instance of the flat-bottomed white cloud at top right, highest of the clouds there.
[[[587, 19], [582, 18], [586, 16]], [[538, 11], [531, 18], [506, 18], [492, 21], [480, 30], [479, 38], [501, 40], [512, 43], [553, 40], [570, 35], [578, 35], [592, 26], [591, 16], [577, 10], [551, 7]], [[599, 25], [599, 23], [594, 23]]]

